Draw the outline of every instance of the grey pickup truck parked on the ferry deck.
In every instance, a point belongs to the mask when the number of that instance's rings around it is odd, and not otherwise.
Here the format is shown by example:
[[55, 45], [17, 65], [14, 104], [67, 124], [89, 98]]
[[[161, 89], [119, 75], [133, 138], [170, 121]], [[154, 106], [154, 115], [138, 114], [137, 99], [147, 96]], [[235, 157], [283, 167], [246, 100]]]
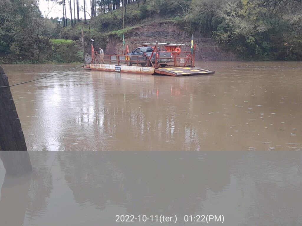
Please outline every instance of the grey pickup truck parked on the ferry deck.
[[[160, 51], [159, 47], [157, 47], [157, 48]], [[154, 49], [154, 47], [151, 47], [151, 46], [144, 46], [144, 47], [136, 48], [134, 51], [127, 54], [130, 57], [130, 60], [127, 61], [127, 65], [131, 66], [132, 64], [135, 64], [135, 61], [144, 61], [145, 63], [140, 62], [140, 64], [142, 66], [146, 66], [146, 65], [151, 66], [148, 61], [148, 58], [146, 56], [151, 57], [153, 49]], [[156, 55], [156, 52], [153, 53], [153, 56], [151, 59], [153, 64], [155, 64], [155, 55]], [[162, 58], [162, 59], [160, 59], [160, 58]], [[167, 66], [167, 63], [171, 62], [171, 60], [172, 60], [171, 52], [159, 52], [159, 58], [157, 59], [157, 62], [160, 64], [161, 67]]]

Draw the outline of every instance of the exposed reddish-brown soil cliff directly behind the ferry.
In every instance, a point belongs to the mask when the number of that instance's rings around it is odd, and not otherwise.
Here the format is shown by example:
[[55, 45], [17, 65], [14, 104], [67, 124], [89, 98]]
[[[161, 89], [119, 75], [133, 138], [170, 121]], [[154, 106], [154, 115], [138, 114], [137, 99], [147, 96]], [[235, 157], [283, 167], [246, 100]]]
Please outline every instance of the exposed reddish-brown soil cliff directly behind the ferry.
[[[110, 35], [107, 41], [105, 54], [114, 54], [122, 49], [123, 44], [120, 37]], [[156, 41], [186, 44], [182, 50], [189, 51], [191, 34], [171, 22], [154, 22], [134, 28], [125, 35], [125, 41], [130, 51], [137, 48], [136, 44]], [[237, 59], [232, 52], [221, 49], [211, 37], [194, 33], [194, 43], [197, 44], [196, 59], [202, 59], [202, 56], [205, 60], [232, 61]]]

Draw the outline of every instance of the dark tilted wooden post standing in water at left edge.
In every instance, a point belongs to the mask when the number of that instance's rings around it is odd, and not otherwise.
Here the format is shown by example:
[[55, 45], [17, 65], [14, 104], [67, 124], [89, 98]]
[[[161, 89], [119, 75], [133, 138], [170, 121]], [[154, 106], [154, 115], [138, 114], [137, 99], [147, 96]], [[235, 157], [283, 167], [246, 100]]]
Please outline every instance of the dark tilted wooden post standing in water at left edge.
[[[0, 66], [0, 86], [8, 78]], [[0, 158], [7, 174], [21, 175], [32, 171], [21, 123], [9, 87], [0, 88]]]

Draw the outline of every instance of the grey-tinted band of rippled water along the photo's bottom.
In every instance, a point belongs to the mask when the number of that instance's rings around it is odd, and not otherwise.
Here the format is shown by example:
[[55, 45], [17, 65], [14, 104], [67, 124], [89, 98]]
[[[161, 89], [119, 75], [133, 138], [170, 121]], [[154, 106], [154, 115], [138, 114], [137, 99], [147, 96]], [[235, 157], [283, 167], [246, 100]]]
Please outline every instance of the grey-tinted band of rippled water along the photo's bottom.
[[296, 151], [30, 156], [31, 175], [4, 179], [4, 225], [117, 225], [117, 214], [176, 214], [178, 225], [185, 214], [208, 213], [223, 214], [226, 225], [299, 225], [302, 220], [302, 155]]

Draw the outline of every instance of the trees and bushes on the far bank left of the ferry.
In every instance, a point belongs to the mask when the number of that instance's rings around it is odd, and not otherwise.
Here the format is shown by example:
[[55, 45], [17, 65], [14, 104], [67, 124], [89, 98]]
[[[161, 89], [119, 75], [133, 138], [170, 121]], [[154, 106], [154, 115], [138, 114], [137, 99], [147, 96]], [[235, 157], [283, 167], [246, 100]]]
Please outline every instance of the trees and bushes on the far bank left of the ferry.
[[81, 62], [75, 41], [51, 39], [57, 28], [43, 18], [35, 0], [0, 0], [0, 62]]

